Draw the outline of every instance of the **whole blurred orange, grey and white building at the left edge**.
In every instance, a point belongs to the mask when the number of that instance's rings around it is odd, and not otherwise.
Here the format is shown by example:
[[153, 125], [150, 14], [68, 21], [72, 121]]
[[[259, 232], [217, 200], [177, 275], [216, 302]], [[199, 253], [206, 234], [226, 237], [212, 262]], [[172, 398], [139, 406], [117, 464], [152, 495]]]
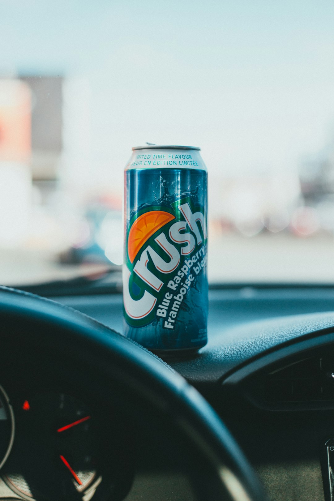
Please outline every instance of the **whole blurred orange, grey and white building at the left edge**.
[[62, 77], [0, 79], [0, 247], [46, 248], [58, 237], [46, 207], [58, 188], [62, 85]]

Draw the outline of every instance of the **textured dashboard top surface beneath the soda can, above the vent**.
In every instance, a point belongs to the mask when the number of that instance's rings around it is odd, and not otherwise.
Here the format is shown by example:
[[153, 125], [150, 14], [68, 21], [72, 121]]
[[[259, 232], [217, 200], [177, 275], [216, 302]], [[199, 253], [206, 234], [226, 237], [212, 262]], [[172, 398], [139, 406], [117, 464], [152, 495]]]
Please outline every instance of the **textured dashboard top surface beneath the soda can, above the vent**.
[[[122, 331], [120, 294], [53, 299]], [[314, 332], [332, 331], [334, 291], [330, 288], [211, 290], [208, 344], [192, 359], [169, 363], [194, 385], [212, 384], [241, 363], [278, 345]]]

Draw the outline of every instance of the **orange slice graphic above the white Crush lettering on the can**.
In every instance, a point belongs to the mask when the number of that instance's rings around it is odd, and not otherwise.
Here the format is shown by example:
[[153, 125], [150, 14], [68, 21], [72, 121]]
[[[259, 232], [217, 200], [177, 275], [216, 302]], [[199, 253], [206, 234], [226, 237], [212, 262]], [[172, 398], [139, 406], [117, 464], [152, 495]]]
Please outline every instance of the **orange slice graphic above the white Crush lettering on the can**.
[[150, 236], [172, 219], [175, 219], [175, 216], [169, 212], [151, 210], [144, 212], [134, 221], [128, 237], [128, 255], [131, 263]]

